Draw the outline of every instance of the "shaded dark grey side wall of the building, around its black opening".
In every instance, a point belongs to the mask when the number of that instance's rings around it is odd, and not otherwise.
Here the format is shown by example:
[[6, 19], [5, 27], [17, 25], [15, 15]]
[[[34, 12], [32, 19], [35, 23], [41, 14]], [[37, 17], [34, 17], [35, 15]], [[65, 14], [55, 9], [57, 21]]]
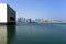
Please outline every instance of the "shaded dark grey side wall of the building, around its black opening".
[[10, 20], [10, 16], [16, 19], [15, 14], [16, 14], [15, 11], [11, 7], [7, 6], [8, 22], [15, 22], [15, 20], [14, 21]]

